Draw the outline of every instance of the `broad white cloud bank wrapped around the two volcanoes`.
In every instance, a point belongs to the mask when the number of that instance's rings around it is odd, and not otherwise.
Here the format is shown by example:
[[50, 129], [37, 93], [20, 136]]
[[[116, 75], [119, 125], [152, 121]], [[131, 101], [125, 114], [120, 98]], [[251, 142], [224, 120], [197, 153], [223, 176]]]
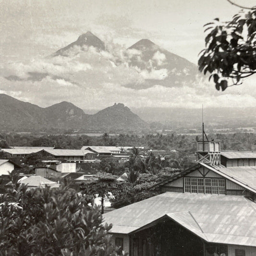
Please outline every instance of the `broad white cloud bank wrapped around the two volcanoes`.
[[[146, 69], [131, 67], [131, 59], [140, 58], [141, 51], [110, 43], [108, 51], [93, 47], [71, 48], [67, 56], [11, 62], [0, 66], [1, 93], [47, 107], [60, 101], [70, 101], [80, 108], [105, 108], [115, 102], [129, 107], [253, 107], [256, 105], [255, 80], [219, 92], [201, 76], [193, 83], [163, 86], [170, 78], [166, 68], [156, 69], [165, 55], [156, 52], [145, 62]], [[189, 70], [183, 69], [187, 74]], [[180, 76], [182, 76], [182, 73]], [[12, 80], [6, 77], [12, 76]], [[153, 81], [143, 87], [147, 80]], [[175, 84], [175, 81], [173, 81]], [[126, 85], [133, 86], [126, 86]]]

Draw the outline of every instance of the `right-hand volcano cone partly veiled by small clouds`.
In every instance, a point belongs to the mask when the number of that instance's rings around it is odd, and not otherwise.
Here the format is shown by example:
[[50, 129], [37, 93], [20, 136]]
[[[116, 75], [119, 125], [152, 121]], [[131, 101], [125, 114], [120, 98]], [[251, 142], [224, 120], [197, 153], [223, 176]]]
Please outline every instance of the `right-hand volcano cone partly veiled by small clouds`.
[[146, 82], [128, 87], [147, 88], [153, 85], [166, 87], [182, 86], [195, 82], [199, 74], [197, 66], [163, 49], [148, 39], [141, 39], [127, 50], [136, 50], [130, 65], [138, 67], [144, 73]]

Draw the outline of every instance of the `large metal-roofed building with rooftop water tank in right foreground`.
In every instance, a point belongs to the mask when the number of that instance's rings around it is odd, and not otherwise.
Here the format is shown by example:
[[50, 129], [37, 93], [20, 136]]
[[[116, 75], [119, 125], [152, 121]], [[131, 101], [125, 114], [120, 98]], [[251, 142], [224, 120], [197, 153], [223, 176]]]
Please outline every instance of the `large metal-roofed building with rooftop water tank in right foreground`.
[[104, 214], [129, 256], [256, 256], [256, 152], [197, 142], [197, 163], [162, 194]]

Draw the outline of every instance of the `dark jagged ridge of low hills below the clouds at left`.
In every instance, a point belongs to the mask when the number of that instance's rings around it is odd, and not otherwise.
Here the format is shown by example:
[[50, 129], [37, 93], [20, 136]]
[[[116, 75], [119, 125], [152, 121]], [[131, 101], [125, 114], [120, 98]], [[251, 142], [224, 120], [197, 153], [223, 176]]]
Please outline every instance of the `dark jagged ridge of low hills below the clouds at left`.
[[88, 130], [99, 132], [138, 131], [148, 128], [129, 108], [118, 103], [94, 115], [70, 102], [63, 101], [48, 108], [0, 94], [1, 131]]

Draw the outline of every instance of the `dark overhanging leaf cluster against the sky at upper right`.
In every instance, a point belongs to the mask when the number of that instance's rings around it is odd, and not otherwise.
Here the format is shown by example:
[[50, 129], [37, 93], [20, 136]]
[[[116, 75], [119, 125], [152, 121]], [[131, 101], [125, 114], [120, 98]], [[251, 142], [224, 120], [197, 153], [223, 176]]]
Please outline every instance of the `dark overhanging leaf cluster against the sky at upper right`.
[[240, 85], [256, 73], [256, 9], [241, 11], [229, 22], [215, 19], [205, 27], [210, 32], [198, 65], [200, 72], [211, 73], [217, 90]]

